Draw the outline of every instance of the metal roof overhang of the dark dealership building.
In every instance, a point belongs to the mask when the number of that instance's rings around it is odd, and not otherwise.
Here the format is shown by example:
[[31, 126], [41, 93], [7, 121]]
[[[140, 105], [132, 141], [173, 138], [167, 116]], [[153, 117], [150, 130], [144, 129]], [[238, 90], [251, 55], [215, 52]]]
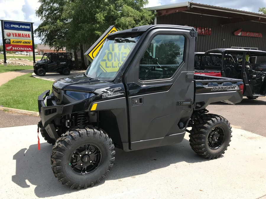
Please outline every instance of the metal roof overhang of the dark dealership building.
[[237, 23], [237, 22], [246, 22], [246, 21], [266, 23], [265, 14], [259, 14], [254, 12], [223, 8], [223, 7], [211, 6], [205, 4], [197, 4], [192, 2], [182, 2], [178, 4], [155, 6], [147, 9], [156, 10], [158, 17], [182, 11], [193, 14], [223, 17], [224, 19], [222, 20], [221, 25]]

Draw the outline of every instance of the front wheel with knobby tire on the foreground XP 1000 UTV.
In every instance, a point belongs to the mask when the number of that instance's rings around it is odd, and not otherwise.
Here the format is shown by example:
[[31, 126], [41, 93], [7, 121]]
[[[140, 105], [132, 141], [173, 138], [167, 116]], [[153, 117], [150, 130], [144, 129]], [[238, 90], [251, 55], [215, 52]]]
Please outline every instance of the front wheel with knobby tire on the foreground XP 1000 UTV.
[[114, 161], [111, 138], [93, 126], [67, 131], [53, 146], [54, 175], [69, 188], [87, 188], [103, 180]]

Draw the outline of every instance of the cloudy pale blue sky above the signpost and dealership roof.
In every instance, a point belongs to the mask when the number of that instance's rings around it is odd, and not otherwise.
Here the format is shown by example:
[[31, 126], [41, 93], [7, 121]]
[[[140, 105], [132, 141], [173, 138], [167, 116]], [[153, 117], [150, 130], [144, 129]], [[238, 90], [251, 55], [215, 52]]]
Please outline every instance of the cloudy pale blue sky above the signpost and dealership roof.
[[[189, 0], [191, 1], [191, 0]], [[150, 0], [146, 7], [160, 6], [184, 2], [184, 0]], [[258, 12], [259, 7], [266, 7], [266, 0], [193, 0], [194, 3], [221, 6], [250, 12]], [[33, 22], [33, 29], [40, 24], [35, 10], [40, 3], [38, 0], [0, 0], [0, 19], [21, 22]], [[2, 35], [0, 30], [0, 35]], [[2, 39], [0, 44], [2, 43]], [[34, 43], [41, 43], [40, 38], [34, 37]]]

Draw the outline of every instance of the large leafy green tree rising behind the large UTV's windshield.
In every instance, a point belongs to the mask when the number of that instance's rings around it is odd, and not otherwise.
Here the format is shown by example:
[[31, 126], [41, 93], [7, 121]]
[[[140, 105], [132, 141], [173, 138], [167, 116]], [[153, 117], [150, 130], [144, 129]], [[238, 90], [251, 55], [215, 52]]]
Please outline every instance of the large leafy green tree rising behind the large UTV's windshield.
[[119, 30], [150, 24], [155, 15], [142, 9], [147, 0], [39, 0], [36, 15], [42, 23], [35, 30], [42, 42], [60, 49], [66, 46], [81, 51], [83, 44], [92, 45], [110, 25]]

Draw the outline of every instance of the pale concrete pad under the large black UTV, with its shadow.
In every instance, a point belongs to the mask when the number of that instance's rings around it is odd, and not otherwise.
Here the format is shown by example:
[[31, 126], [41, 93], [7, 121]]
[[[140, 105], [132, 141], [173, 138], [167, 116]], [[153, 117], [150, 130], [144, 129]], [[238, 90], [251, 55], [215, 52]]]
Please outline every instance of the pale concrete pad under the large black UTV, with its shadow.
[[266, 137], [233, 128], [224, 156], [207, 160], [179, 144], [123, 152], [104, 182], [71, 190], [53, 176], [52, 145], [37, 125], [0, 129], [1, 198], [265, 198]]

